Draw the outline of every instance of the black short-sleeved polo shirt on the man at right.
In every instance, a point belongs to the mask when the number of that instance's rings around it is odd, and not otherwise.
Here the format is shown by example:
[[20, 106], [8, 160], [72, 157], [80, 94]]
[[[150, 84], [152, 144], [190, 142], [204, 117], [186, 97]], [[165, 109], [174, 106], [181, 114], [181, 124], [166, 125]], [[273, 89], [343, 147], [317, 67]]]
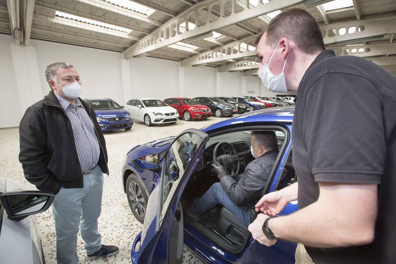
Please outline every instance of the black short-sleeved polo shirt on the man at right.
[[306, 247], [314, 262], [396, 262], [395, 125], [395, 76], [367, 59], [335, 56], [332, 50], [316, 57], [299, 85], [293, 117], [299, 208], [317, 201], [318, 182], [378, 184], [379, 189], [373, 243]]

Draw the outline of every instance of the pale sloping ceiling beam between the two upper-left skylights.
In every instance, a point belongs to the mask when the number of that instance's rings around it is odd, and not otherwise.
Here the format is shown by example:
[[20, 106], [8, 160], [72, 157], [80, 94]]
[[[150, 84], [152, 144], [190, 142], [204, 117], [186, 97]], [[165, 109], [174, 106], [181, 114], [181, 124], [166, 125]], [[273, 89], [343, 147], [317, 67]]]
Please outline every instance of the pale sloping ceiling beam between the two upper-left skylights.
[[103, 10], [114, 12], [114, 13], [117, 13], [120, 15], [125, 15], [127, 17], [130, 17], [133, 19], [138, 19], [140, 21], [144, 21], [146, 23], [150, 23], [150, 24], [158, 26], [158, 27], [160, 27], [162, 25], [161, 22], [156, 21], [151, 18], [148, 18], [147, 15], [143, 15], [143, 14], [135, 12], [133, 10], [129, 10], [127, 8], [122, 8], [122, 7], [110, 4], [109, 2], [106, 2], [103, 0], [76, 0], [76, 2], [88, 4], [89, 6], [95, 6], [97, 8], [101, 8]]

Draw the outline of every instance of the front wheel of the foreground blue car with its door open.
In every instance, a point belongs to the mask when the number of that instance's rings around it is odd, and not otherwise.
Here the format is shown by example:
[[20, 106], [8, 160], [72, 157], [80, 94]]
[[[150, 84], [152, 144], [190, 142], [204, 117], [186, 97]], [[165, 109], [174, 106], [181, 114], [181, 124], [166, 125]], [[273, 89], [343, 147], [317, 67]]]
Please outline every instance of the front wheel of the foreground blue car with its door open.
[[[135, 188], [133, 188], [135, 186]], [[131, 173], [126, 180], [126, 197], [133, 216], [143, 224], [146, 215], [148, 195], [142, 180]], [[144, 204], [143, 204], [144, 203]]]

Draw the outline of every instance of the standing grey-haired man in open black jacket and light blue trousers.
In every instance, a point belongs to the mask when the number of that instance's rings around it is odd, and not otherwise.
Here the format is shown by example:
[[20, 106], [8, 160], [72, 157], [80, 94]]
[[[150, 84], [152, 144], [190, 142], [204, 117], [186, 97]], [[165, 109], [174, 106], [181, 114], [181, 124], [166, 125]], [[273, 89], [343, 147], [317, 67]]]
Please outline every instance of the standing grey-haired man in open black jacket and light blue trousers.
[[57, 262], [78, 263], [79, 226], [88, 258], [114, 255], [118, 247], [101, 245], [97, 230], [109, 169], [95, 112], [78, 97], [82, 85], [73, 65], [52, 63], [46, 78], [51, 91], [26, 110], [19, 126], [19, 161], [30, 183], [55, 194]]

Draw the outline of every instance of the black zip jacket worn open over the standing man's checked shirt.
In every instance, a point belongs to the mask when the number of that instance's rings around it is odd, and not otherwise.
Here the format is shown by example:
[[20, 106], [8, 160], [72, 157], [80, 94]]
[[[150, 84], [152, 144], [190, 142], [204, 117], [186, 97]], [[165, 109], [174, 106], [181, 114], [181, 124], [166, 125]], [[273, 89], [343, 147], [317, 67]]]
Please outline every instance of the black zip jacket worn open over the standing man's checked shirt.
[[[98, 165], [103, 173], [109, 174], [106, 142], [95, 112], [91, 103], [80, 101], [92, 120], [99, 141]], [[57, 194], [61, 187], [84, 186], [72, 125], [53, 91], [27, 108], [19, 124], [19, 143], [19, 161], [25, 178], [37, 189]]]

